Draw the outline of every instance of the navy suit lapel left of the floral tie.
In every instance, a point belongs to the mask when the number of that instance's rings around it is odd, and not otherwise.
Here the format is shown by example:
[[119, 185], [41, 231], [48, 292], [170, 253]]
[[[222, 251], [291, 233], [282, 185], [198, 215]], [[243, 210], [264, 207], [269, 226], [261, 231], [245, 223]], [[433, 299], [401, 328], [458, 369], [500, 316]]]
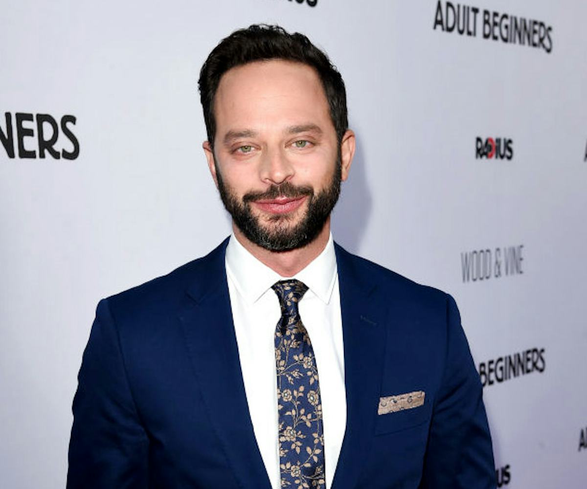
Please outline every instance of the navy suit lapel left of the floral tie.
[[242, 380], [224, 264], [227, 242], [202, 259], [180, 322], [212, 426], [239, 487], [271, 489]]

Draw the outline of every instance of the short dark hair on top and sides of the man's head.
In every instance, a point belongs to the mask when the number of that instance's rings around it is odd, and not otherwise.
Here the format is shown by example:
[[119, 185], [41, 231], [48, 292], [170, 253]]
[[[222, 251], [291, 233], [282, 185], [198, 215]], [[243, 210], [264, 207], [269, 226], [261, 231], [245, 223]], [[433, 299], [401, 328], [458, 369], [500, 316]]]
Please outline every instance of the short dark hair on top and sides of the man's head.
[[316, 48], [299, 32], [290, 34], [278, 25], [255, 24], [222, 39], [200, 70], [198, 87], [210, 144], [214, 145], [216, 135], [214, 96], [222, 75], [236, 66], [269, 59], [295, 61], [316, 70], [324, 87], [330, 118], [340, 143], [349, 126], [345, 83], [326, 53]]

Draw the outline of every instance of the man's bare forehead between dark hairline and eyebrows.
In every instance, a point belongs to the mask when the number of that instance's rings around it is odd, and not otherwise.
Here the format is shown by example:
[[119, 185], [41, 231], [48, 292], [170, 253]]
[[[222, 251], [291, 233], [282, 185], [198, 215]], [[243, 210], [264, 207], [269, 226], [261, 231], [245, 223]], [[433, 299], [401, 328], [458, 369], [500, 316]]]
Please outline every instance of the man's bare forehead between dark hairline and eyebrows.
[[330, 124], [334, 129], [318, 73], [311, 66], [285, 60], [252, 62], [224, 73], [214, 115], [219, 131], [300, 123]]

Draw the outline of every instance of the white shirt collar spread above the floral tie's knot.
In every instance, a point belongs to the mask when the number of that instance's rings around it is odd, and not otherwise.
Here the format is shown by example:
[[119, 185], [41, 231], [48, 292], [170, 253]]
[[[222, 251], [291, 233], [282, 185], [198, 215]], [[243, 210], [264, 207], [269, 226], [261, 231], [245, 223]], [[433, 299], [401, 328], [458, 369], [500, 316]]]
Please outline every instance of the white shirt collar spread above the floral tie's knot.
[[257, 302], [275, 282], [289, 278], [302, 281], [322, 302], [329, 303], [336, 279], [336, 253], [332, 234], [321, 254], [294, 277], [282, 277], [267, 267], [232, 234], [226, 249], [226, 269], [239, 294], [251, 304]]

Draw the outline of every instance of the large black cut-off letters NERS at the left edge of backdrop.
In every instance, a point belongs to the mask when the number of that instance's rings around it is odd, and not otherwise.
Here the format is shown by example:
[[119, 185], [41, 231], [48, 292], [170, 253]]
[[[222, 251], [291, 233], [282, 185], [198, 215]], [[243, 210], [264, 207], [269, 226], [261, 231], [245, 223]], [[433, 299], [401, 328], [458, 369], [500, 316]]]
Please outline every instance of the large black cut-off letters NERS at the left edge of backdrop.
[[[79, 141], [72, 128], [75, 116], [65, 115], [58, 123], [49, 114], [16, 112], [13, 117], [5, 112], [4, 119], [4, 128], [0, 123], [0, 141], [9, 158], [46, 158], [49, 154], [56, 160], [75, 160], [79, 156]], [[58, 144], [60, 133], [69, 141], [69, 149]]]

